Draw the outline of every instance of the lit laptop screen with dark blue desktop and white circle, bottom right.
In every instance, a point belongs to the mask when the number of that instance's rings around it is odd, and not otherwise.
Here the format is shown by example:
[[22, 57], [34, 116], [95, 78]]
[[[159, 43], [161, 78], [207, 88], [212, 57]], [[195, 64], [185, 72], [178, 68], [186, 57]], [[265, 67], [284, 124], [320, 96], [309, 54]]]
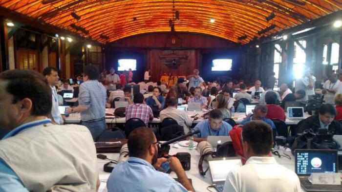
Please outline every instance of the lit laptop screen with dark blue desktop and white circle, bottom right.
[[299, 176], [311, 173], [335, 173], [337, 150], [297, 149], [295, 151], [296, 173]]

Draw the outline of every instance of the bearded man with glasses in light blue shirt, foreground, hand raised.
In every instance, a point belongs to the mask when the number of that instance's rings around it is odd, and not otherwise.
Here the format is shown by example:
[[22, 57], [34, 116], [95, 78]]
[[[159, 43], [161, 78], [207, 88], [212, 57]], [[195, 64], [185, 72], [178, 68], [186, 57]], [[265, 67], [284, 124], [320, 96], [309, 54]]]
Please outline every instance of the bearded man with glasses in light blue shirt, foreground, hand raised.
[[[151, 128], [134, 129], [128, 136], [129, 159], [119, 163], [107, 180], [108, 192], [194, 192], [176, 157], [159, 158], [158, 142]], [[168, 161], [178, 181], [156, 171]]]

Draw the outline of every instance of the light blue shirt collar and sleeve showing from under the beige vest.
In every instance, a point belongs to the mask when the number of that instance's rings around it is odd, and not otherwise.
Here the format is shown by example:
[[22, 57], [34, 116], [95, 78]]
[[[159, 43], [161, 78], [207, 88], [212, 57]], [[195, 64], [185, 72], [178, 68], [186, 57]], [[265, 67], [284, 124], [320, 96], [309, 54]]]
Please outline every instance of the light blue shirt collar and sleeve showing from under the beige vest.
[[[8, 132], [2, 140], [14, 136], [26, 128], [31, 128], [37, 124], [43, 123], [51, 123], [51, 120], [43, 119], [23, 124]], [[0, 159], [0, 183], [0, 192], [28, 192], [19, 176], [4, 161], [2, 161], [2, 159]]]

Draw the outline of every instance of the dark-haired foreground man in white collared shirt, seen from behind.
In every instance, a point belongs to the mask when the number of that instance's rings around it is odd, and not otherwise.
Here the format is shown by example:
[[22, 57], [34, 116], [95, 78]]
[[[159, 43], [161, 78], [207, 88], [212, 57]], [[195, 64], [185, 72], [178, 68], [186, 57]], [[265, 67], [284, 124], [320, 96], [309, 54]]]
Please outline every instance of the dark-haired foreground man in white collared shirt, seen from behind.
[[270, 156], [272, 128], [263, 121], [250, 121], [242, 128], [242, 148], [247, 162], [227, 175], [223, 192], [301, 192], [294, 171]]

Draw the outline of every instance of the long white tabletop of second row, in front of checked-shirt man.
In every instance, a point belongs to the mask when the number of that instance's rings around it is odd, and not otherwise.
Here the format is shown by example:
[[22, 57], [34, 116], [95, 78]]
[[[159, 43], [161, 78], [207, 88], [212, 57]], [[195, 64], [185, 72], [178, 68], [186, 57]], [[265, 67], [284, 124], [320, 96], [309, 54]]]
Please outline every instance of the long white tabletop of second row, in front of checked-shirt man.
[[[106, 123], [107, 124], [124, 124], [126, 123], [126, 118], [125, 117], [115, 117], [114, 114], [115, 108], [106, 108]], [[196, 114], [198, 119], [193, 121], [193, 124], [197, 124], [201, 121], [203, 121], [202, 115], [205, 113], [208, 113], [209, 110], [201, 110], [201, 111], [187, 111], [187, 114], [191, 118], [191, 116], [194, 116]], [[304, 113], [304, 118], [310, 117], [308, 113]], [[240, 124], [244, 118], [246, 118], [245, 112], [235, 112], [234, 119], [236, 124]], [[191, 118], [193, 119], [193, 118]], [[69, 117], [65, 118], [64, 121], [66, 124], [79, 124], [81, 122], [81, 116], [80, 113], [71, 113], [69, 114]], [[286, 118], [285, 124], [286, 125], [297, 125], [299, 120], [291, 120]], [[161, 120], [160, 118], [153, 118], [153, 120], [150, 120], [150, 124], [160, 124]]]

